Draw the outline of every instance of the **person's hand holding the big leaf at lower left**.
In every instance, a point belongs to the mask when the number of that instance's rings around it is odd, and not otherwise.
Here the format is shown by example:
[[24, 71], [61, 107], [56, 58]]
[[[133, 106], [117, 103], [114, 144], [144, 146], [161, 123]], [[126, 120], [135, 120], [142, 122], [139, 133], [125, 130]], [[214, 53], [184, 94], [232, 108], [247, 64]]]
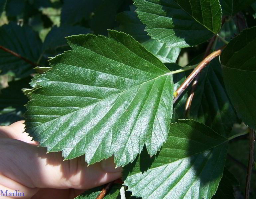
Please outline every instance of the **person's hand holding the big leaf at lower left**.
[[24, 199], [73, 199], [121, 177], [122, 168], [115, 168], [113, 158], [87, 166], [84, 156], [63, 161], [61, 152], [46, 154], [46, 148], [23, 133], [23, 123], [0, 127], [0, 190], [19, 190]]

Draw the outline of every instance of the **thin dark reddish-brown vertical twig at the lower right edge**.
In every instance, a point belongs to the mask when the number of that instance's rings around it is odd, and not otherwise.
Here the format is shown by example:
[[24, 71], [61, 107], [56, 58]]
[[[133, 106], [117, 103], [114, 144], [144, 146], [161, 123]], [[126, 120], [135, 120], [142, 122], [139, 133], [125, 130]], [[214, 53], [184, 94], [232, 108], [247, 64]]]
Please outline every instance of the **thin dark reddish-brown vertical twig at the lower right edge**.
[[254, 162], [254, 141], [255, 141], [254, 130], [249, 128], [250, 151], [249, 151], [249, 161], [248, 161], [246, 185], [245, 185], [245, 199], [248, 199], [250, 196], [250, 182], [251, 182], [252, 168], [253, 168], [253, 162]]

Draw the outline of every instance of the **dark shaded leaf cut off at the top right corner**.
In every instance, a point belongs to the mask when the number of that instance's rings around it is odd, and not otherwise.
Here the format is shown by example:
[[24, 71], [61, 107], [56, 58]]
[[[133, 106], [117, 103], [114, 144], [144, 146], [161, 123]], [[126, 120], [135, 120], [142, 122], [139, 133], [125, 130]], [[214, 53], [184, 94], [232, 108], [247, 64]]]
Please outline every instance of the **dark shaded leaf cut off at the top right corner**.
[[219, 0], [223, 15], [235, 16], [236, 13], [249, 7], [255, 0]]

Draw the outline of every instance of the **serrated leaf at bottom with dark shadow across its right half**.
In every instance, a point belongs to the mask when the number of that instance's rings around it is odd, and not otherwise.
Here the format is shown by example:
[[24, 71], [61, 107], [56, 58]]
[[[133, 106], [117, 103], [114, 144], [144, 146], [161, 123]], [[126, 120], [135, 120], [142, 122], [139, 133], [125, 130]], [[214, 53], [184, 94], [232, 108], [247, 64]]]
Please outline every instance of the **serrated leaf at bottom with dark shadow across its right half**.
[[211, 198], [222, 177], [227, 139], [193, 120], [170, 127], [157, 155], [150, 158], [143, 151], [124, 167], [124, 184], [143, 199]]

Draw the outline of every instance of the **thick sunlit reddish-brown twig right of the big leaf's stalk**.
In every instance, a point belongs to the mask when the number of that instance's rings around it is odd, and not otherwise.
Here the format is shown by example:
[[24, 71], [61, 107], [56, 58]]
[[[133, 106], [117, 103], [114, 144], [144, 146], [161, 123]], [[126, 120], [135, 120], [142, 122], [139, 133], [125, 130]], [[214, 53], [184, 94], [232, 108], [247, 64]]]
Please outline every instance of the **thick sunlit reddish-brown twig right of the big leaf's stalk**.
[[181, 84], [181, 86], [174, 92], [174, 98], [179, 98], [179, 96], [188, 88], [192, 80], [200, 73], [200, 71], [207, 66], [207, 64], [214, 59], [215, 57], [219, 56], [222, 52], [222, 48], [216, 50], [205, 57], [198, 66], [192, 71], [192, 73], [187, 77], [187, 79]]

